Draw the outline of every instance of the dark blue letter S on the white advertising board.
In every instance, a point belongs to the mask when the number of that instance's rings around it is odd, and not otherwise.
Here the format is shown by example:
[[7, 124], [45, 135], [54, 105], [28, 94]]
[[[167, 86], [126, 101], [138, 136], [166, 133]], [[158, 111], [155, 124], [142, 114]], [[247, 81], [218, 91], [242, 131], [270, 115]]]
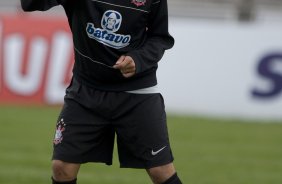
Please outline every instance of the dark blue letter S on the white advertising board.
[[267, 79], [267, 89], [255, 88], [252, 95], [257, 98], [271, 98], [282, 93], [282, 52], [271, 53], [263, 57], [258, 64], [258, 74]]

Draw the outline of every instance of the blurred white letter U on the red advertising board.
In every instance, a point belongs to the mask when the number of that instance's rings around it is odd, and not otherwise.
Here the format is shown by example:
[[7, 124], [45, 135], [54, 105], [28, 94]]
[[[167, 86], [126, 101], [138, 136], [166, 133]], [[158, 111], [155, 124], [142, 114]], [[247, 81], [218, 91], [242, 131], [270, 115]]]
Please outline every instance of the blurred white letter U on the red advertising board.
[[29, 96], [36, 93], [42, 83], [47, 43], [36, 37], [31, 41], [27, 72], [21, 72], [25, 40], [19, 34], [10, 35], [4, 40], [4, 78], [7, 87], [16, 94]]

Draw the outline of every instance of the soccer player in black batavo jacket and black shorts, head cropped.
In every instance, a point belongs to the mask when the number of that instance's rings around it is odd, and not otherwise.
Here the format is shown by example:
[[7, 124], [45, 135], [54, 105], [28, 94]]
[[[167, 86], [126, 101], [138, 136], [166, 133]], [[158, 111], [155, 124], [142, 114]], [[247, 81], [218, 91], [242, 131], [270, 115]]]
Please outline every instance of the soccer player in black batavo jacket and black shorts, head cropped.
[[146, 169], [155, 184], [181, 184], [173, 166], [158, 62], [174, 44], [167, 0], [21, 0], [25, 11], [62, 5], [75, 64], [58, 118], [53, 184], [75, 184], [80, 164]]

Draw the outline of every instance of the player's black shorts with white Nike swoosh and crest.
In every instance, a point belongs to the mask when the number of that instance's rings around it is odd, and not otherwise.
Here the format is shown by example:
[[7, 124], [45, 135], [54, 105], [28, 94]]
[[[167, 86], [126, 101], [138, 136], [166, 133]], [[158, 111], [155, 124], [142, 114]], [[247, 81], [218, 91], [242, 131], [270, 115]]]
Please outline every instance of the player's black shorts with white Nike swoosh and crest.
[[148, 169], [173, 161], [161, 94], [99, 91], [73, 79], [64, 100], [53, 160], [111, 165], [117, 135], [120, 167]]

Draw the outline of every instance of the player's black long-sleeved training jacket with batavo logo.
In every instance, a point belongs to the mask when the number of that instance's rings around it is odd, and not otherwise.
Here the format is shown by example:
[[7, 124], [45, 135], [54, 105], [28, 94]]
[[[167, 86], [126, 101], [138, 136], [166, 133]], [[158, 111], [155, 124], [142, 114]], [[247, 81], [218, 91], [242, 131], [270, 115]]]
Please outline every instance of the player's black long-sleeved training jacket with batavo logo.
[[[73, 34], [73, 75], [106, 91], [128, 91], [157, 84], [158, 61], [174, 44], [168, 32], [167, 0], [21, 0], [24, 11], [62, 5]], [[111, 68], [131, 56], [136, 74], [125, 78]]]

